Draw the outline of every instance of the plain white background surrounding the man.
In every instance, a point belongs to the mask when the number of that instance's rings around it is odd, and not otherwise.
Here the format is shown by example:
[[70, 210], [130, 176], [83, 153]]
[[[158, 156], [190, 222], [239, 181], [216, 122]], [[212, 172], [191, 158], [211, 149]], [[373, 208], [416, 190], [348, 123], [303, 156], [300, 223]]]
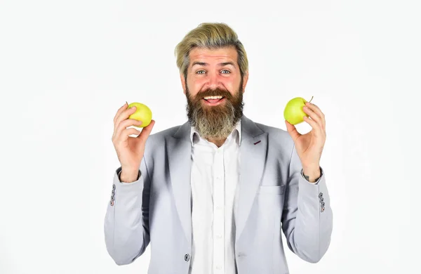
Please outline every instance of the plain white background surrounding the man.
[[173, 51], [200, 22], [246, 48], [247, 117], [286, 129], [297, 96], [326, 115], [332, 242], [316, 264], [286, 249], [290, 273], [420, 273], [420, 4], [152, 2], [0, 1], [0, 273], [147, 273], [149, 247], [128, 266], [105, 249], [113, 117], [185, 122]]

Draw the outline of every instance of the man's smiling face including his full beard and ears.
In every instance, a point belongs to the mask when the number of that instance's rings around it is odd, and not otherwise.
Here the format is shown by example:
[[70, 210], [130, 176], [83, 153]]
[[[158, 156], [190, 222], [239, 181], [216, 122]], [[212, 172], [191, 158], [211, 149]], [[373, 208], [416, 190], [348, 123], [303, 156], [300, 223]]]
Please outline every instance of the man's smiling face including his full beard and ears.
[[227, 138], [243, 115], [248, 74], [241, 79], [234, 47], [194, 48], [189, 57], [187, 81], [181, 75], [189, 122], [203, 138]]

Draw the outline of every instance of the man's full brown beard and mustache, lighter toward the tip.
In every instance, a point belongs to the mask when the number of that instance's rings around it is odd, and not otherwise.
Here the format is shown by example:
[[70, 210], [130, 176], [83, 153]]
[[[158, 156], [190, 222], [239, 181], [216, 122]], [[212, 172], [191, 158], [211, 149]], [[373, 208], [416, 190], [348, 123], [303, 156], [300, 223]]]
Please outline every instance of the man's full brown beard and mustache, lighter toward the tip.
[[[207, 89], [197, 93], [194, 98], [186, 87], [187, 117], [202, 138], [222, 140], [229, 136], [243, 116], [242, 86], [241, 83], [234, 96], [227, 90]], [[203, 98], [206, 96], [223, 96], [225, 102], [220, 105], [205, 105]]]

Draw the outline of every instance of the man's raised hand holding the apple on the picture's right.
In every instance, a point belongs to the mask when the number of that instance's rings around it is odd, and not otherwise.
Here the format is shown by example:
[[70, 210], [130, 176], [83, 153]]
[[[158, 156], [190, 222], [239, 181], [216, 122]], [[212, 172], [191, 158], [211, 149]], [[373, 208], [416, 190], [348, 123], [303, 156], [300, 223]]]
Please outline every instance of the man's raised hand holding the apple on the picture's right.
[[312, 126], [306, 134], [300, 134], [293, 124], [285, 121], [286, 129], [293, 138], [298, 157], [306, 174], [319, 173], [321, 152], [326, 141], [326, 121], [323, 112], [313, 103], [305, 103], [303, 111], [309, 115], [304, 121]]

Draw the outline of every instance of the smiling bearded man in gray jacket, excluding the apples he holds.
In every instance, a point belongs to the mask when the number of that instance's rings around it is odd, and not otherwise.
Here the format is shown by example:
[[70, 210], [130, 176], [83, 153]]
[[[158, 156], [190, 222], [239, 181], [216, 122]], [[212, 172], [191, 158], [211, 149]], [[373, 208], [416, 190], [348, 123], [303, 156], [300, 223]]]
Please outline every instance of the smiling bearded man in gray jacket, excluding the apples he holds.
[[126, 104], [114, 117], [121, 166], [105, 216], [109, 255], [132, 263], [150, 243], [150, 274], [285, 274], [284, 233], [293, 253], [320, 261], [333, 226], [323, 112], [307, 103], [304, 135], [245, 117], [248, 59], [226, 24], [199, 25], [175, 55], [188, 121], [150, 134], [154, 120], [128, 129], [141, 122]]

